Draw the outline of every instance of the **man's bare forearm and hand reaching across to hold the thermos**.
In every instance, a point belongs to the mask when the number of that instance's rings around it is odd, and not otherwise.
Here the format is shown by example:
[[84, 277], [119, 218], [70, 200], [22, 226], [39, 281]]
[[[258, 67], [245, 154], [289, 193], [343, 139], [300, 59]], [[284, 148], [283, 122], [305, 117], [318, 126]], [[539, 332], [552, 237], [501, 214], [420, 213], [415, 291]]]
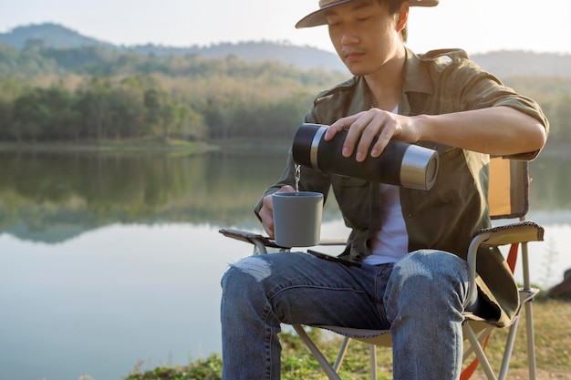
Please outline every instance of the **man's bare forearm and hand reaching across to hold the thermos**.
[[546, 140], [545, 127], [539, 120], [510, 107], [414, 117], [371, 108], [337, 120], [327, 130], [325, 139], [332, 139], [342, 129], [348, 129], [343, 155], [349, 157], [357, 149], [358, 161], [366, 158], [371, 145], [371, 156], [378, 157], [389, 139], [410, 143], [430, 140], [502, 156], [538, 151]]

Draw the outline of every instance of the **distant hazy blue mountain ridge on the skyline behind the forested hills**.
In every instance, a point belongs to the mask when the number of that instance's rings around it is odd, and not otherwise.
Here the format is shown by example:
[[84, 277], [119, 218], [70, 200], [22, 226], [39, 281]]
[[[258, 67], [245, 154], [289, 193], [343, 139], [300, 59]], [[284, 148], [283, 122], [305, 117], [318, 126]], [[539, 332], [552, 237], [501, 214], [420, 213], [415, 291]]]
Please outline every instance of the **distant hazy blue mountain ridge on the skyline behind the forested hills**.
[[[219, 58], [239, 56], [248, 61], [274, 60], [285, 65], [303, 69], [325, 67], [346, 72], [347, 69], [336, 54], [310, 46], [294, 46], [285, 42], [241, 42], [222, 43], [213, 46], [115, 46], [65, 26], [47, 23], [18, 26], [12, 31], [0, 34], [0, 44], [24, 49], [26, 46], [42, 45], [53, 48], [77, 48], [80, 46], [101, 46], [118, 51], [132, 51], [141, 55], [185, 56], [202, 55]], [[571, 55], [555, 53], [534, 53], [530, 51], [496, 51], [471, 56], [472, 60], [498, 77], [514, 76], [559, 76], [571, 77]]]

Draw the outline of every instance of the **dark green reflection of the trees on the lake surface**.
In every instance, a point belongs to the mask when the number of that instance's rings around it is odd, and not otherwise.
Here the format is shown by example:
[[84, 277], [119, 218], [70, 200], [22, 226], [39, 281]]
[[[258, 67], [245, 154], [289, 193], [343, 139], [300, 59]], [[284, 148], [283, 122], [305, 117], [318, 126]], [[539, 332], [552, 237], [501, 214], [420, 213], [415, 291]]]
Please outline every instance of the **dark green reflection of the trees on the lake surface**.
[[[254, 202], [283, 165], [283, 151], [198, 157], [4, 153], [0, 231], [57, 242], [117, 222], [248, 228]], [[565, 159], [533, 162], [532, 210], [571, 209], [569, 171]]]

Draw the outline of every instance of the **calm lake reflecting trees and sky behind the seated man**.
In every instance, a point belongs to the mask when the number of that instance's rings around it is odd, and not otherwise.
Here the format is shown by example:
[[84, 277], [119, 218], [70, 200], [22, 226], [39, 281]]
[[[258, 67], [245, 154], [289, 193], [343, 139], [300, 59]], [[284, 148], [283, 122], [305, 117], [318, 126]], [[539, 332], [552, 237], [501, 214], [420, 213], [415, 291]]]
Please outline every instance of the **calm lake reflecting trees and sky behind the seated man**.
[[[545, 288], [571, 268], [567, 161], [531, 164]], [[0, 152], [0, 380], [119, 380], [219, 352], [220, 278], [251, 247], [218, 230], [260, 232], [254, 204], [284, 164], [284, 149]], [[328, 202], [322, 237], [346, 233]]]

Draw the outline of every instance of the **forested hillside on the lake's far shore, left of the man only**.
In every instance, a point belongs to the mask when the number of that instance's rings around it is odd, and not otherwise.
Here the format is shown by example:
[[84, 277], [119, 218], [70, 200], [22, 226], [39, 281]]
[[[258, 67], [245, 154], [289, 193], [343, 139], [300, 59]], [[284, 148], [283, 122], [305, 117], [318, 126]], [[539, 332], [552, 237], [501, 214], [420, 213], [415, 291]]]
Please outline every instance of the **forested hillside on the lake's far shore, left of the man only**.
[[[84, 61], [80, 50], [70, 65]], [[289, 139], [311, 98], [345, 79], [235, 56], [117, 58], [105, 72], [2, 75], [0, 140]]]

